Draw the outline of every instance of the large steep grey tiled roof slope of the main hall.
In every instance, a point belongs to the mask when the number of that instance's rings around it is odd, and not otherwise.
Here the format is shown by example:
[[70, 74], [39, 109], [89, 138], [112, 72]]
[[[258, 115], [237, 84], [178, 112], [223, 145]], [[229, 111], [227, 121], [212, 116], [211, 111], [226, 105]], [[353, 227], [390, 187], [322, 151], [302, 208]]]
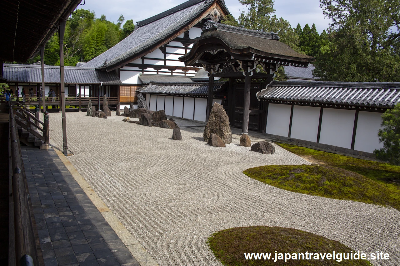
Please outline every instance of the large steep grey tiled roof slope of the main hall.
[[[84, 64], [84, 67], [111, 67], [124, 60], [133, 58], [136, 54], [150, 48], [150, 46], [162, 42], [162, 40], [186, 26], [186, 24], [199, 16], [215, 1], [216, 0], [190, 0], [180, 5], [182, 8], [176, 8], [175, 12], [171, 13], [169, 12], [170, 10], [168, 10], [148, 20], [139, 22], [139, 25], [143, 26], [136, 26], [132, 34], [103, 54], [100, 54]], [[222, 1], [222, 3], [224, 4], [224, 1]], [[174, 8], [172, 11], [174, 11]], [[228, 12], [227, 9], [226, 12]]]

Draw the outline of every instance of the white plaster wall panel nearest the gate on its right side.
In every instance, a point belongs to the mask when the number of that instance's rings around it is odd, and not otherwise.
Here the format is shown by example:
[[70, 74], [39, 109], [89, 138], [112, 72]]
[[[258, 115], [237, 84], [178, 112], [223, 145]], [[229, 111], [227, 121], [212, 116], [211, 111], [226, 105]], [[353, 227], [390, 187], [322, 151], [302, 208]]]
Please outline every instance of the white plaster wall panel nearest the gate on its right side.
[[288, 137], [291, 109], [291, 105], [270, 103], [265, 132]]

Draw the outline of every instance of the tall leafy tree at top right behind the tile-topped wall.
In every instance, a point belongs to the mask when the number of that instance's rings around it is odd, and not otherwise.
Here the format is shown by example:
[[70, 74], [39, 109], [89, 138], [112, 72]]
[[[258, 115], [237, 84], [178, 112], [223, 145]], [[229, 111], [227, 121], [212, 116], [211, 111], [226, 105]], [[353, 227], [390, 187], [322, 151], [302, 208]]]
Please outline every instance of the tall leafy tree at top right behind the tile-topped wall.
[[400, 81], [400, 2], [320, 0], [332, 20], [314, 76], [324, 81]]

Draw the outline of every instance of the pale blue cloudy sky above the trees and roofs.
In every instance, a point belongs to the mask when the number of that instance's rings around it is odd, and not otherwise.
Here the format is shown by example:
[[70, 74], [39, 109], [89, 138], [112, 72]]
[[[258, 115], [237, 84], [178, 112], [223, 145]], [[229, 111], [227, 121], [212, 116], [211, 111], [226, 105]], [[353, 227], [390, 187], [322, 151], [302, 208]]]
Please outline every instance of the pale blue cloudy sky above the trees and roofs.
[[[119, 15], [124, 15], [125, 20], [132, 19], [134, 24], [137, 21], [150, 18], [156, 14], [164, 12], [174, 6], [186, 2], [185, 0], [84, 0], [84, 6], [80, 8], [94, 10], [96, 16], [100, 18], [102, 14], [106, 19], [116, 22]], [[238, 0], [225, 0], [225, 4], [231, 14], [238, 18], [240, 11], [243, 10], [242, 4]], [[303, 28], [307, 23], [312, 26], [315, 23], [318, 33], [328, 28], [329, 20], [324, 18], [319, 0], [278, 0], [275, 1], [275, 14], [288, 20], [292, 27], [298, 23]]]

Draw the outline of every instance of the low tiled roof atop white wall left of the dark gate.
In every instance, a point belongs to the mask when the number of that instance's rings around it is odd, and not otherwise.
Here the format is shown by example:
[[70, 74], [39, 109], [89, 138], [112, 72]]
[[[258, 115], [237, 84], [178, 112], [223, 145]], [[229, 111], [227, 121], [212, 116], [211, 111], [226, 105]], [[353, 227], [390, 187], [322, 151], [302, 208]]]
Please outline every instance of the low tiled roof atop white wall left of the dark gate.
[[[223, 82], [214, 82], [213, 91], [221, 89]], [[140, 91], [142, 94], [171, 95], [171, 96], [202, 96], [208, 95], [208, 82], [192, 83], [158, 83], [150, 84]]]

